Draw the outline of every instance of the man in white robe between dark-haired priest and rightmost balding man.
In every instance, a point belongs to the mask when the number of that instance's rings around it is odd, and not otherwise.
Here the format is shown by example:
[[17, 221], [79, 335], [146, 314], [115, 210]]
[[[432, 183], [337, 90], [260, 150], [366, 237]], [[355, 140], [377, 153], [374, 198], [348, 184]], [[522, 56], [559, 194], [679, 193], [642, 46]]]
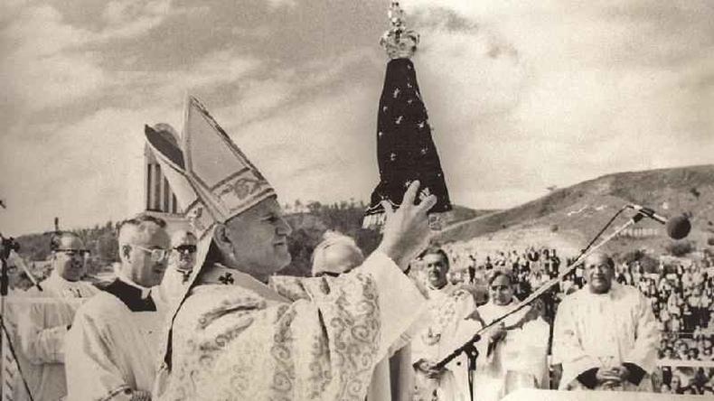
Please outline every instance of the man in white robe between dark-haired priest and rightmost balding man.
[[[512, 276], [497, 270], [488, 279], [489, 300], [479, 306], [485, 324], [502, 317], [518, 304]], [[548, 388], [550, 327], [529, 307], [496, 323], [476, 343], [474, 400], [497, 401], [521, 387]]]

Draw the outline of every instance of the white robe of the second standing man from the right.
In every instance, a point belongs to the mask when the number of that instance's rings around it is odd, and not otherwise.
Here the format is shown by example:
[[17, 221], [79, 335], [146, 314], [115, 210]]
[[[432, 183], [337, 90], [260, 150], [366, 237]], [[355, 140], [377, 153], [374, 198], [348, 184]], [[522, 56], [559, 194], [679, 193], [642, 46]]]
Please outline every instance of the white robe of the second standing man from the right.
[[[486, 303], [477, 311], [488, 324], [510, 312], [518, 304], [513, 299], [507, 305]], [[503, 322], [512, 326], [523, 319], [528, 311], [524, 308], [513, 313]], [[540, 316], [524, 322], [522, 326], [506, 331], [506, 336], [489, 347], [487, 338], [476, 343], [479, 351], [474, 372], [474, 400], [496, 401], [506, 392], [517, 387], [548, 388], [548, 340], [550, 326]], [[491, 349], [489, 352], [489, 348]]]

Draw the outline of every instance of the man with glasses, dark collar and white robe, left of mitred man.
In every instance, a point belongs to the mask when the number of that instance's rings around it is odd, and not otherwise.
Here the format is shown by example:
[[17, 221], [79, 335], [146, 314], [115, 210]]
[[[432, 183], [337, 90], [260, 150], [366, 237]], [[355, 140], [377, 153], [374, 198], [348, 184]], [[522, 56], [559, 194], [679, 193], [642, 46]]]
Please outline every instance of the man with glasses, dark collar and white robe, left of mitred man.
[[118, 277], [80, 308], [70, 330], [69, 399], [151, 399], [166, 312], [151, 287], [161, 283], [170, 252], [164, 228], [149, 215], [119, 225]]

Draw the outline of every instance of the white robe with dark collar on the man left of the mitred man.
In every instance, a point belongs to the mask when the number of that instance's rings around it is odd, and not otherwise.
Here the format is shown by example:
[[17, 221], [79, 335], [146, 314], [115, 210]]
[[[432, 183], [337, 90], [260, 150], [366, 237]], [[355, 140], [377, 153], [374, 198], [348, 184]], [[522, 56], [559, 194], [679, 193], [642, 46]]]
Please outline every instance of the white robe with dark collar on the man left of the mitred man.
[[67, 345], [68, 400], [130, 400], [151, 391], [166, 311], [148, 293], [119, 278], [77, 312]]

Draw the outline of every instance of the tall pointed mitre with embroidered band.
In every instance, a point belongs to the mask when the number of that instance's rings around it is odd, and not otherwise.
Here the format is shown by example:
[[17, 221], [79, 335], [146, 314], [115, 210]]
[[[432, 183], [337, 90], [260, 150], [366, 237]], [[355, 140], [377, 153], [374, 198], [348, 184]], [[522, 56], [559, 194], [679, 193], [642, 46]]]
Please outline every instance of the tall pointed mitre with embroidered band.
[[181, 137], [164, 127], [146, 126], [146, 143], [199, 238], [215, 223], [276, 196], [197, 98], [186, 100]]

